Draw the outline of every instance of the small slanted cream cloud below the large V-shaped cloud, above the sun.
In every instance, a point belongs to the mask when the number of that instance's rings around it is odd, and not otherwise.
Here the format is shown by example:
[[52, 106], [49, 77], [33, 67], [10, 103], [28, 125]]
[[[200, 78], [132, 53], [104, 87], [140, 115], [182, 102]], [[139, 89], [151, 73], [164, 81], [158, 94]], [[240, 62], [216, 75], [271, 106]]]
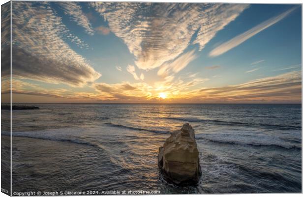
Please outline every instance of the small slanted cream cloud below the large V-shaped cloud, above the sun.
[[177, 59], [170, 63], [163, 64], [158, 70], [158, 75], [168, 76], [170, 72], [178, 73], [183, 68], [185, 68], [189, 62], [196, 58], [194, 53], [195, 50], [192, 50], [190, 52], [184, 53], [183, 55], [179, 56]]

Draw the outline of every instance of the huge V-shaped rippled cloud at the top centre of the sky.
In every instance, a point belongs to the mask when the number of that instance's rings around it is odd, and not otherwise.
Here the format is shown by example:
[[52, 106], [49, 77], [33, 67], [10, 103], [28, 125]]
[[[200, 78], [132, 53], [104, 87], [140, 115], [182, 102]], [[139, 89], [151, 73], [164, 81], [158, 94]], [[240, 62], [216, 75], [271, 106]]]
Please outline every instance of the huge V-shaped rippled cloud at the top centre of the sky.
[[151, 70], [183, 54], [190, 44], [199, 50], [235, 20], [247, 4], [92, 2], [122, 38], [138, 68]]

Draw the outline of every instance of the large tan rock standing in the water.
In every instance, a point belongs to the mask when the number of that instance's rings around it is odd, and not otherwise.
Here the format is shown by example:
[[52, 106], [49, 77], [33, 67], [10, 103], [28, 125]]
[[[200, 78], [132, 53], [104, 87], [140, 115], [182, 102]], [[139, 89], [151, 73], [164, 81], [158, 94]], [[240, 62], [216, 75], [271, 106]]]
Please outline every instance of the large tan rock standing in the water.
[[201, 176], [195, 131], [188, 124], [175, 131], [159, 148], [158, 167], [178, 185], [197, 183]]

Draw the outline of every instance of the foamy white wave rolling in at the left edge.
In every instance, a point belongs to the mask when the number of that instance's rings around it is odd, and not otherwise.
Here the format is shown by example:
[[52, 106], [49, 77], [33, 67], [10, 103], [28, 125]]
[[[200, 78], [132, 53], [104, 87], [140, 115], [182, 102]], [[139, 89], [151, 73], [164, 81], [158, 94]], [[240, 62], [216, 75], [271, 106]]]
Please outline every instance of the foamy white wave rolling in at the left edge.
[[[1, 135], [10, 136], [10, 132], [1, 131]], [[66, 141], [71, 143], [89, 145], [89, 146], [96, 146], [99, 147], [97, 144], [83, 141], [76, 138], [66, 138], [58, 136], [57, 134], [52, 134], [52, 132], [46, 131], [34, 131], [34, 132], [12, 132], [13, 137], [24, 137], [24, 138], [33, 138], [33, 139], [40, 139], [40, 140], [50, 140], [50, 141]]]

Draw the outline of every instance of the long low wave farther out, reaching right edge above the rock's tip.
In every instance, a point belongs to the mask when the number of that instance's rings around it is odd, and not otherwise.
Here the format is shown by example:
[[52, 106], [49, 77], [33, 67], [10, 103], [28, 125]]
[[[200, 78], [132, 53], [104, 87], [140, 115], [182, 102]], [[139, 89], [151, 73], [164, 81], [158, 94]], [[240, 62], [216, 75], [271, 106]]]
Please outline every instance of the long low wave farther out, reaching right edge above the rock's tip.
[[293, 126], [293, 125], [278, 125], [278, 124], [255, 124], [255, 123], [247, 123], [247, 122], [237, 122], [237, 121], [223, 121], [223, 120], [216, 120], [216, 119], [201, 119], [195, 117], [162, 117], [165, 119], [171, 120], [180, 120], [184, 122], [212, 122], [219, 125], [228, 125], [228, 126], [252, 126], [252, 127], [266, 127], [266, 128], [273, 128], [278, 130], [294, 130], [294, 129], [302, 129], [302, 126]]

